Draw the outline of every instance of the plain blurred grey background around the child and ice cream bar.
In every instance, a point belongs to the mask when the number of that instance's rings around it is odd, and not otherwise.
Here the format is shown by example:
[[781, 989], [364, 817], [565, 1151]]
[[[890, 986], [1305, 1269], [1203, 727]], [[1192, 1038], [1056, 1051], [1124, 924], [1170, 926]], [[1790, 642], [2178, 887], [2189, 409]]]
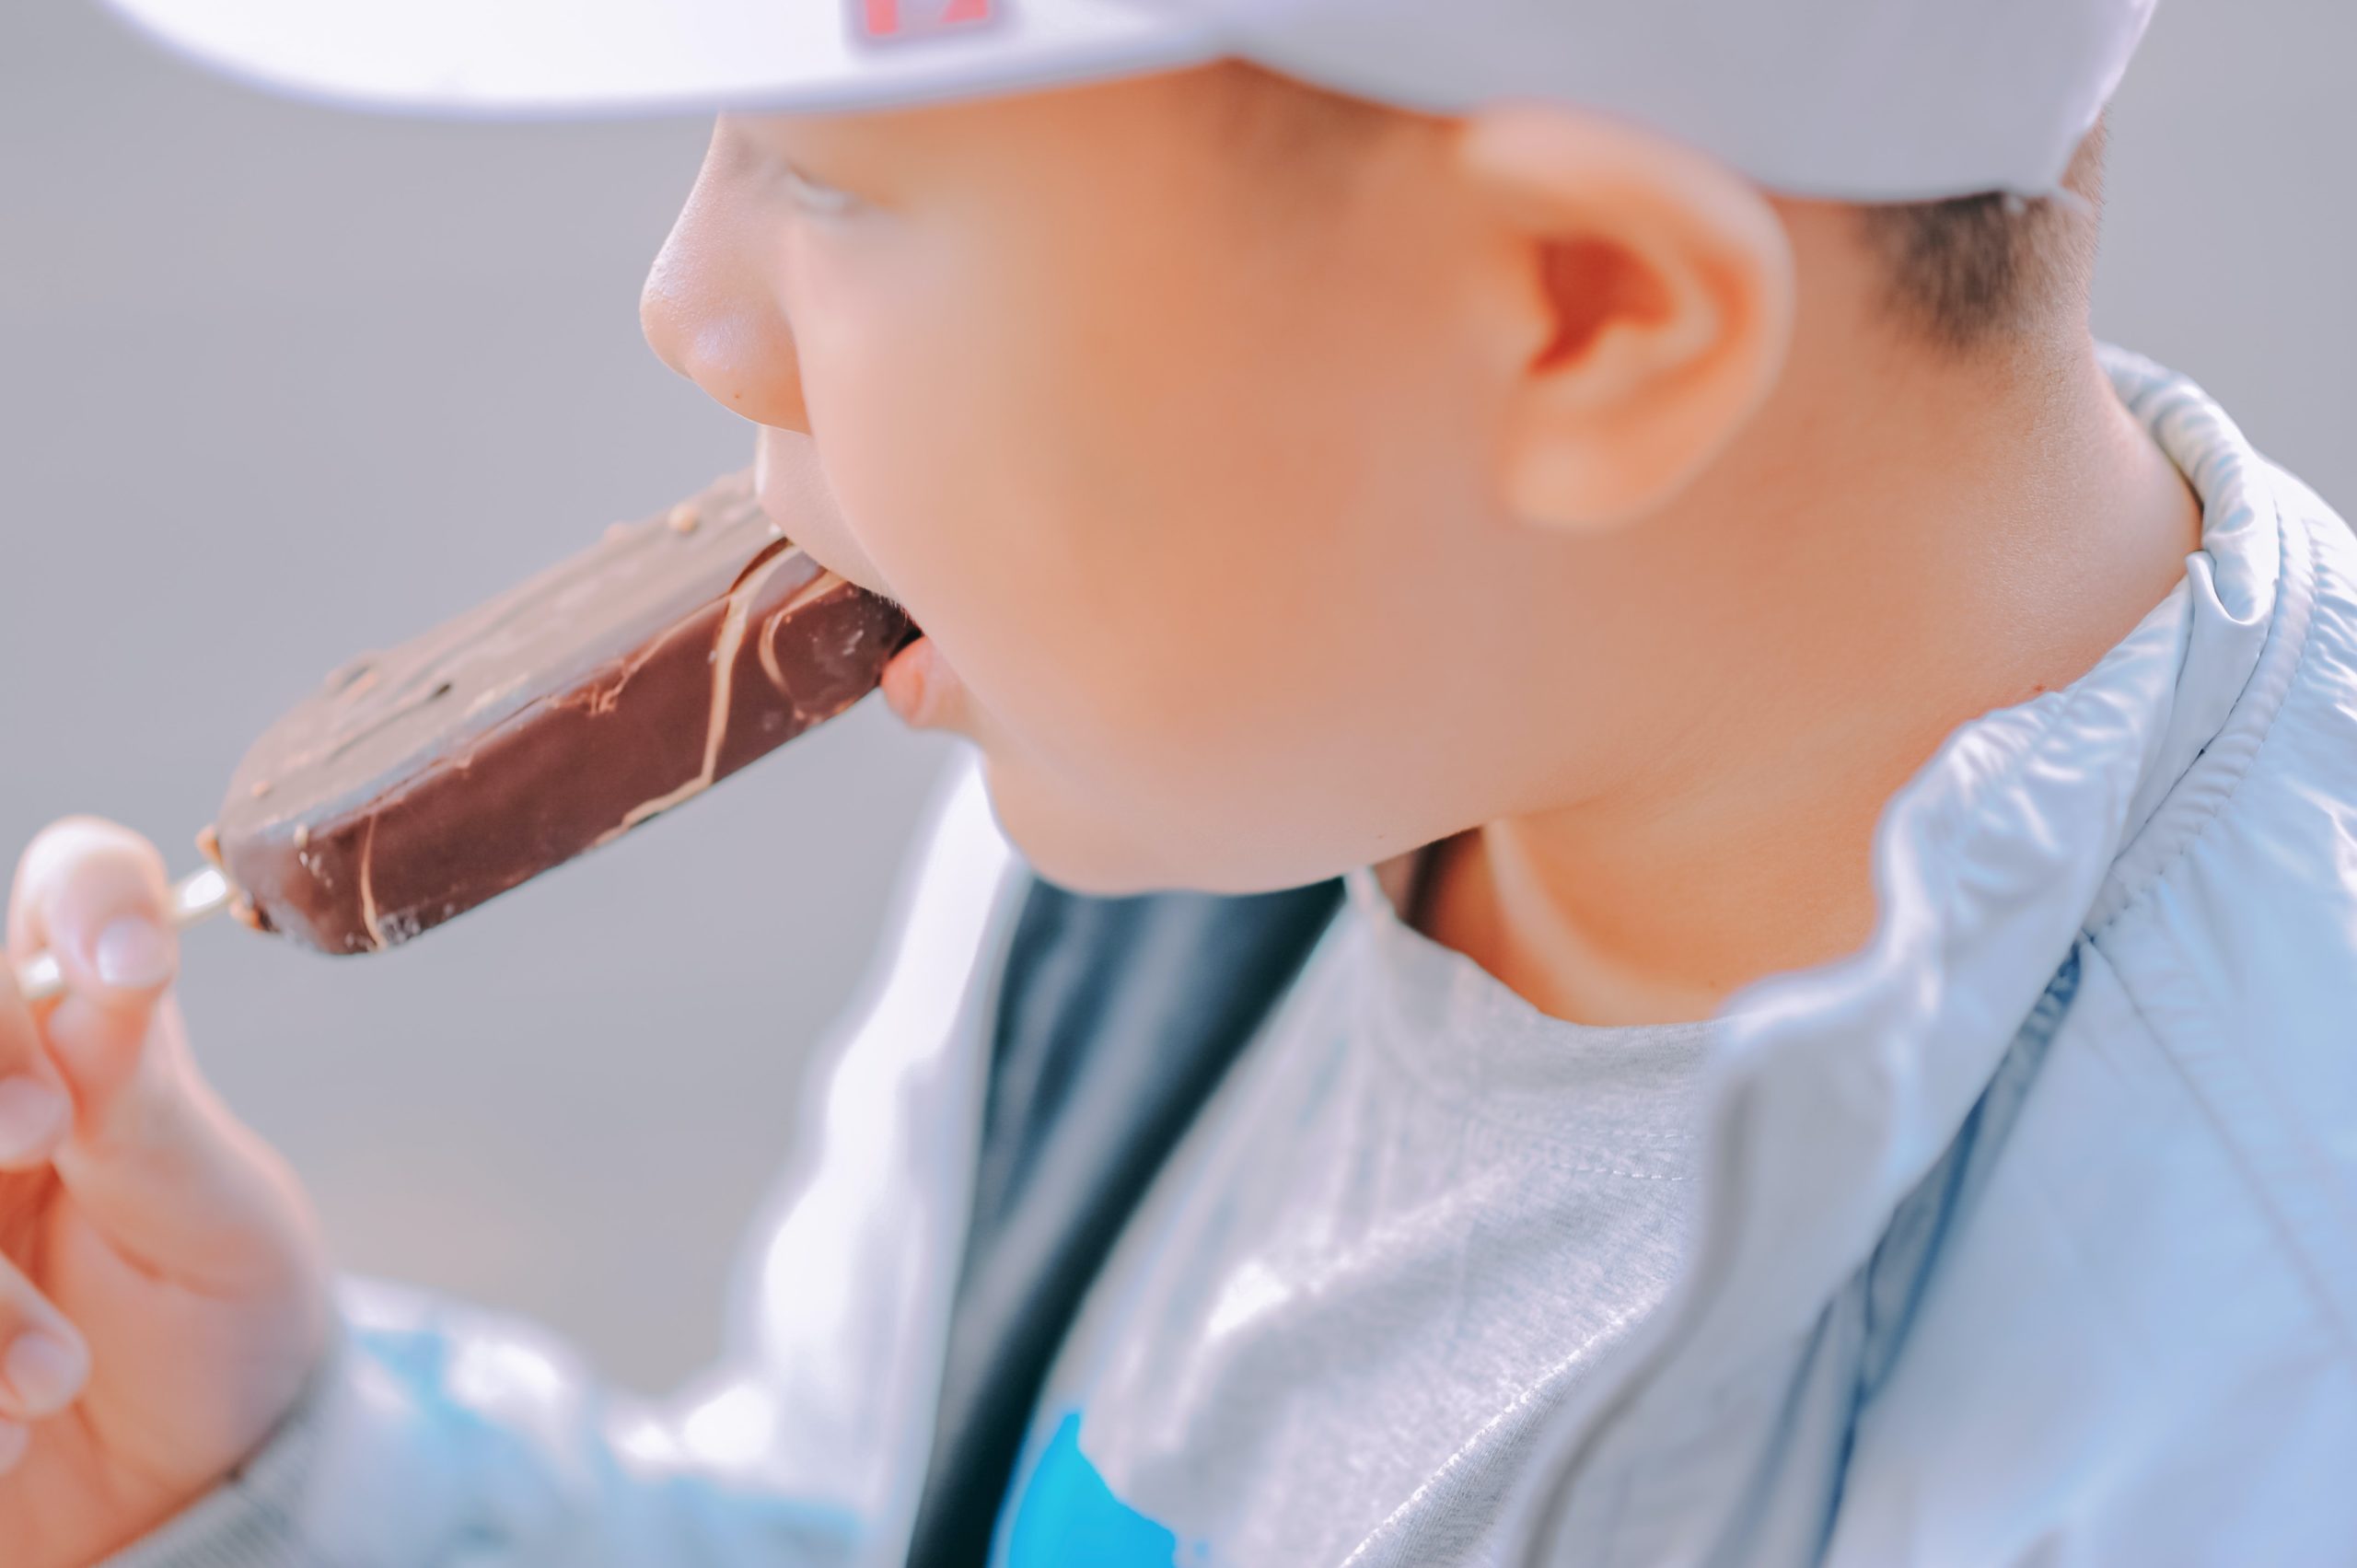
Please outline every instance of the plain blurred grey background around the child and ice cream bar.
[[[2343, 509], [2350, 59], [2352, 7], [2168, 0], [2114, 106], [2095, 309]], [[339, 116], [73, 0], [0, 5], [0, 861], [64, 811], [193, 861], [330, 665], [745, 460], [636, 328], [702, 137]], [[198, 1049], [337, 1261], [660, 1389], [709, 1351], [804, 1047], [952, 745], [867, 705], [368, 962], [203, 931]]]

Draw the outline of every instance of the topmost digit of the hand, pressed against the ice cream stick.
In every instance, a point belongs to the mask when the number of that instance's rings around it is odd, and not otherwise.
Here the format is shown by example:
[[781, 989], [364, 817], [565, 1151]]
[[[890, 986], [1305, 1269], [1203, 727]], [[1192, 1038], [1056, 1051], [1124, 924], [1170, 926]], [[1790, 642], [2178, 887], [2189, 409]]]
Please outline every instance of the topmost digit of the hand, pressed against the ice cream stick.
[[156, 1004], [179, 971], [165, 901], [156, 846], [99, 818], [54, 823], [16, 865], [9, 950], [47, 948], [66, 976], [42, 1033], [82, 1139], [104, 1139], [127, 1111]]

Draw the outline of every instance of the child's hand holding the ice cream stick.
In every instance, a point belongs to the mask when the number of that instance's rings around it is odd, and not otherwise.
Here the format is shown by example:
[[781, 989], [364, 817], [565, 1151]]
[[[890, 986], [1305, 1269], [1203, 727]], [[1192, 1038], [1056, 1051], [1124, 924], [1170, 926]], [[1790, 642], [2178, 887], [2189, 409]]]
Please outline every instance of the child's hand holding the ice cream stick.
[[[212, 1096], [170, 995], [163, 858], [92, 818], [16, 865], [0, 964], [0, 1542], [90, 1563], [292, 1408], [325, 1264], [285, 1165]], [[38, 1014], [16, 964], [57, 953]]]

